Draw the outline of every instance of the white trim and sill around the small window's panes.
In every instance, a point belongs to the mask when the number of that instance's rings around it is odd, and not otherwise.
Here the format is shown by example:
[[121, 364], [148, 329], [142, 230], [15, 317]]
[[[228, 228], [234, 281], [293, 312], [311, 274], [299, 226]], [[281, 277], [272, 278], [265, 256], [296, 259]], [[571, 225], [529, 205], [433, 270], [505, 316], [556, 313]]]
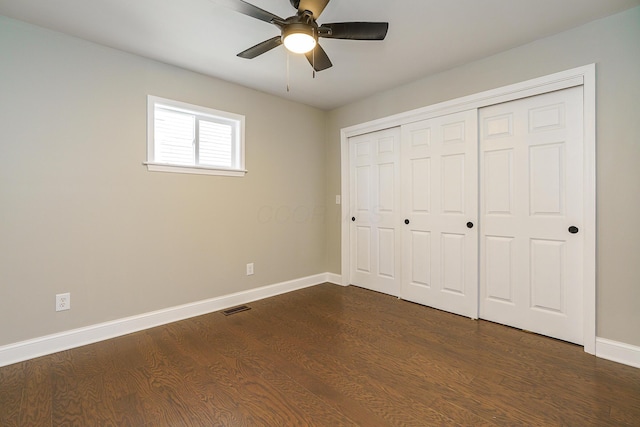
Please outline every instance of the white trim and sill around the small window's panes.
[[[208, 167], [200, 165], [173, 165], [167, 163], [154, 162], [155, 159], [155, 135], [154, 135], [154, 111], [155, 105], [161, 104], [171, 108], [184, 110], [186, 112], [197, 112], [198, 114], [208, 115], [212, 117], [224, 118], [234, 120], [239, 123], [238, 129], [238, 168], [220, 168], [220, 167]], [[173, 172], [173, 173], [187, 173], [197, 175], [221, 175], [221, 176], [244, 176], [247, 173], [245, 169], [245, 144], [244, 144], [244, 129], [245, 117], [241, 114], [229, 113], [227, 111], [215, 110], [213, 108], [203, 107], [194, 104], [188, 104], [186, 102], [175, 101], [172, 99], [161, 98], [158, 96], [147, 96], [147, 161], [143, 162], [147, 166], [147, 170], [151, 172]]]

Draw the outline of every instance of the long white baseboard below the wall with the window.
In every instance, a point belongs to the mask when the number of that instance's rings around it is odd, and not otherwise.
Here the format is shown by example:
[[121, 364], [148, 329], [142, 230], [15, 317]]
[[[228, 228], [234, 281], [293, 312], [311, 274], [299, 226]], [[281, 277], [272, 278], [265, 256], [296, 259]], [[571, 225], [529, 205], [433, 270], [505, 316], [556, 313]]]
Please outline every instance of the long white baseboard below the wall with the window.
[[[335, 275], [330, 273], [303, 277], [261, 288], [250, 289], [217, 298], [211, 298], [194, 303], [169, 307], [163, 310], [143, 313], [137, 316], [99, 323], [83, 328], [60, 332], [57, 334], [38, 337], [26, 341], [8, 344], [0, 347], [0, 366], [7, 366], [24, 360], [33, 359], [58, 351], [80, 347], [110, 338], [153, 328], [190, 317], [201, 316], [214, 311], [224, 310], [240, 304], [284, 294], [298, 289], [319, 285], [325, 282], [335, 282]], [[338, 276], [339, 277], [339, 276]]]

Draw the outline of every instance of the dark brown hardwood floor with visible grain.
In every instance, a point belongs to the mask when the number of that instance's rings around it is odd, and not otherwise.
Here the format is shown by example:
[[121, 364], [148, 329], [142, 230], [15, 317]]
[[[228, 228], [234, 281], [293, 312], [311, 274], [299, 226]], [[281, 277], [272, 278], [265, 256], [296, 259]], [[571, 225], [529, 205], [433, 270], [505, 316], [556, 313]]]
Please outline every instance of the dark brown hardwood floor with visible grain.
[[0, 368], [1, 426], [640, 426], [640, 369], [324, 284]]

